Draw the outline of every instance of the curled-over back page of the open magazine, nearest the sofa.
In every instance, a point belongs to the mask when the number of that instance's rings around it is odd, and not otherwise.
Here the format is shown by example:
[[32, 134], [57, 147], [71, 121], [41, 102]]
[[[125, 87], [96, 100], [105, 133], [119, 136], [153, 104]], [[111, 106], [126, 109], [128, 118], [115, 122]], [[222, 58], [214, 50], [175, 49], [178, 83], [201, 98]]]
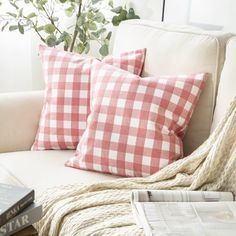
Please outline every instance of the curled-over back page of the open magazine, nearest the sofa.
[[216, 202], [233, 201], [230, 192], [180, 191], [180, 190], [135, 190], [133, 202]]

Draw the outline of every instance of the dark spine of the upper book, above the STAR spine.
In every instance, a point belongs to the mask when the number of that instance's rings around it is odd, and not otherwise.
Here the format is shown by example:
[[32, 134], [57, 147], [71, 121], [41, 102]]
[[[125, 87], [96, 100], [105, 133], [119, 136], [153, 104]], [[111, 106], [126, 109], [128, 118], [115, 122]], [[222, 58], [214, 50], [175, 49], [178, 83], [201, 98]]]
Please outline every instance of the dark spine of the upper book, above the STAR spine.
[[0, 226], [6, 224], [10, 219], [19, 214], [34, 201], [34, 190], [27, 194], [24, 198], [12, 205], [8, 210], [0, 216]]

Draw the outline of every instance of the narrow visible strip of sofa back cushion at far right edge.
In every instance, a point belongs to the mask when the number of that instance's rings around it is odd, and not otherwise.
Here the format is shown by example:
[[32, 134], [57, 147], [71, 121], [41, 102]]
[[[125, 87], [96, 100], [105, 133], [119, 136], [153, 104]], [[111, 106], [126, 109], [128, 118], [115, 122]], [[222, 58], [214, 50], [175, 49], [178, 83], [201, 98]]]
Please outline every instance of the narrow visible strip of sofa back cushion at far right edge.
[[231, 38], [226, 47], [226, 58], [219, 83], [212, 131], [224, 117], [234, 96], [236, 96], [236, 37]]

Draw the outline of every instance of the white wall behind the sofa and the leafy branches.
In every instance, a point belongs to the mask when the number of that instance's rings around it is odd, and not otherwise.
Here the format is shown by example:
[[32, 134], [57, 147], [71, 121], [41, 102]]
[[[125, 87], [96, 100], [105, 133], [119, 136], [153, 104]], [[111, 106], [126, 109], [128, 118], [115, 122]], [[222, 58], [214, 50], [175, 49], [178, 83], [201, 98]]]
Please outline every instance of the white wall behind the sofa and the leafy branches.
[[[161, 20], [162, 0], [115, 0], [134, 7], [142, 19]], [[235, 0], [166, 0], [165, 22], [223, 26], [236, 32]], [[42, 89], [40, 41], [35, 35], [0, 32], [0, 92]]]

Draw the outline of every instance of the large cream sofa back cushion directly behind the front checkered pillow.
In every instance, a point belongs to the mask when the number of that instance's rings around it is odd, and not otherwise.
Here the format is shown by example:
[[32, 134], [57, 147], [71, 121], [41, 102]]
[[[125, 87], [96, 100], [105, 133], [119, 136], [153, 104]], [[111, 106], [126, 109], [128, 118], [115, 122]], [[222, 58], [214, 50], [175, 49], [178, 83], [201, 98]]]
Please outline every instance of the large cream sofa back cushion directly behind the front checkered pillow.
[[114, 55], [134, 48], [147, 48], [143, 76], [210, 74], [184, 138], [185, 155], [194, 151], [210, 134], [218, 78], [230, 36], [142, 20], [123, 22], [117, 30]]

